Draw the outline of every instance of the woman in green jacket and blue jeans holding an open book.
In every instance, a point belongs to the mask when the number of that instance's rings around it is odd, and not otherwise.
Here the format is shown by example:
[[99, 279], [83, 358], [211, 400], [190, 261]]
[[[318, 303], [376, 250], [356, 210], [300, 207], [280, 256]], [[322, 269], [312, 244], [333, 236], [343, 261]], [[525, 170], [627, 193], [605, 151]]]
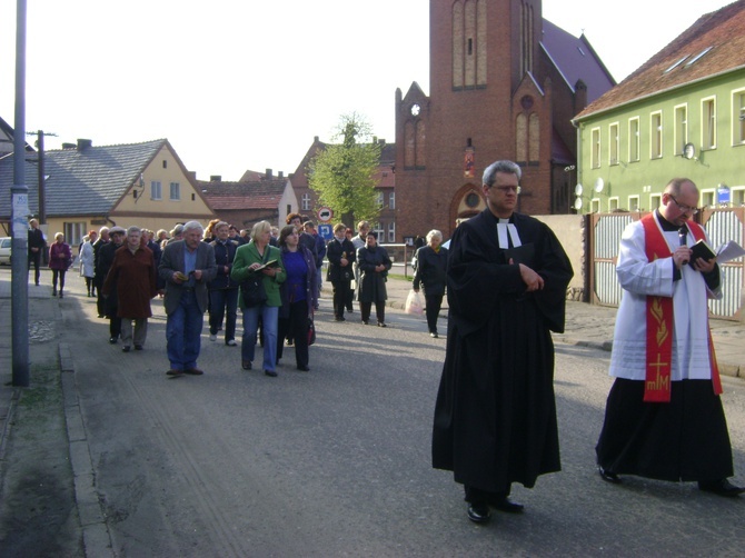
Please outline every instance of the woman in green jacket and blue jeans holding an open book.
[[251, 229], [251, 241], [238, 247], [232, 261], [230, 278], [238, 282], [260, 279], [266, 299], [256, 306], [247, 306], [244, 289], [238, 296], [238, 306], [244, 313], [244, 337], [240, 347], [244, 370], [252, 368], [256, 352], [256, 332], [261, 318], [264, 336], [264, 373], [277, 376], [277, 320], [282, 306], [279, 286], [285, 281], [279, 248], [269, 245], [271, 225], [259, 221]]

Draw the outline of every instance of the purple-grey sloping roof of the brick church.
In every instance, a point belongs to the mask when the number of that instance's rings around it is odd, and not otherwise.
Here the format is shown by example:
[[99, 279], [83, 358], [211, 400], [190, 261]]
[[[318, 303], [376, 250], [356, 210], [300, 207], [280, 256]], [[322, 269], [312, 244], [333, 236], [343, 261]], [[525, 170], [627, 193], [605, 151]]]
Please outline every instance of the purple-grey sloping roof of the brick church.
[[544, 19], [540, 46], [569, 89], [574, 91], [579, 80], [587, 86], [587, 102], [598, 99], [616, 84], [584, 33], [574, 37]]

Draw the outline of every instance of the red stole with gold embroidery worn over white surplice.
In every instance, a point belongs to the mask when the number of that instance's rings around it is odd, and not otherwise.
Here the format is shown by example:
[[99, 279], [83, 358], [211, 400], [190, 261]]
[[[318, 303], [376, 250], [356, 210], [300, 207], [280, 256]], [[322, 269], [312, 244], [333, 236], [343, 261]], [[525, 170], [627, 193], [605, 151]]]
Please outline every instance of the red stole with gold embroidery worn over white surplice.
[[[670, 249], [665, 237], [657, 225], [654, 213], [642, 218], [644, 226], [644, 243], [647, 259], [655, 261], [658, 258], [669, 258]], [[696, 240], [705, 238], [704, 229], [694, 223], [688, 223], [688, 230]], [[673, 365], [673, 328], [674, 311], [672, 297], [647, 297], [647, 370], [644, 382], [644, 401], [669, 402], [670, 400], [670, 375]], [[714, 392], [722, 393], [722, 380], [719, 369], [714, 353], [712, 330], [706, 318], [706, 331], [708, 333], [709, 363], [712, 366], [712, 382]]]

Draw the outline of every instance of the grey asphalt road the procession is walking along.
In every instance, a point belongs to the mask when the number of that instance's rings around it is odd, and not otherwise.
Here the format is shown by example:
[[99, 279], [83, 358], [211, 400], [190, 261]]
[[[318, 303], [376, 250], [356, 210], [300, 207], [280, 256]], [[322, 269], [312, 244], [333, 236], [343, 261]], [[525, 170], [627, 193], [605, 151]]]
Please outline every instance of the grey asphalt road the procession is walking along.
[[[515, 487], [526, 512], [496, 512], [483, 527], [466, 519], [451, 475], [429, 465], [445, 339], [430, 339], [424, 319], [388, 309], [385, 329], [357, 312], [336, 323], [325, 298], [310, 372], [295, 369], [291, 348], [277, 378], [244, 371], [240, 349], [205, 329], [205, 376], [169, 380], [159, 300], [146, 349], [125, 355], [108, 343], [93, 299], [77, 283], [68, 290], [62, 340], [117, 556], [743, 554], [745, 498], [599, 479], [607, 352], [557, 345], [564, 470]], [[742, 481], [745, 383], [724, 387]]]

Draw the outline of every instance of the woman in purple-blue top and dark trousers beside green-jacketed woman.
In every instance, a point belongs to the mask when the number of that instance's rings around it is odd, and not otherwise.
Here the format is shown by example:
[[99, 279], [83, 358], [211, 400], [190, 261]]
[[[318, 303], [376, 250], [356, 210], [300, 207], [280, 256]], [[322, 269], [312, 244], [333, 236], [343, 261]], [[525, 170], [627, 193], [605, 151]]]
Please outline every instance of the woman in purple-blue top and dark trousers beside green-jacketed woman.
[[286, 336], [295, 341], [295, 363], [298, 370], [307, 372], [308, 367], [308, 318], [318, 300], [316, 261], [310, 250], [300, 246], [300, 236], [295, 225], [282, 227], [279, 232], [279, 249], [282, 268], [287, 273], [279, 288], [282, 306], [279, 308], [277, 328], [277, 362], [282, 358], [282, 342]]

